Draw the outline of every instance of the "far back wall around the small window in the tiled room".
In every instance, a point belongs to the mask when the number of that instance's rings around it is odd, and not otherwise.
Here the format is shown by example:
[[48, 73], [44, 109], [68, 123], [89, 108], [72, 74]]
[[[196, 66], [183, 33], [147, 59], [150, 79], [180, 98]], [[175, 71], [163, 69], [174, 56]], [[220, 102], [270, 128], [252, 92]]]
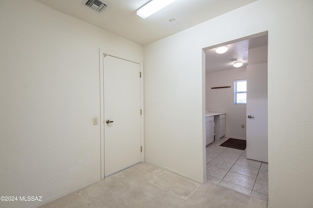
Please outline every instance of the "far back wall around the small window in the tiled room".
[[[205, 73], [206, 109], [212, 112], [226, 112], [226, 137], [246, 140], [246, 105], [234, 104], [234, 81], [246, 79], [246, 68], [234, 68], [221, 72]], [[231, 86], [211, 89], [211, 87]], [[245, 125], [242, 128], [241, 125]]]

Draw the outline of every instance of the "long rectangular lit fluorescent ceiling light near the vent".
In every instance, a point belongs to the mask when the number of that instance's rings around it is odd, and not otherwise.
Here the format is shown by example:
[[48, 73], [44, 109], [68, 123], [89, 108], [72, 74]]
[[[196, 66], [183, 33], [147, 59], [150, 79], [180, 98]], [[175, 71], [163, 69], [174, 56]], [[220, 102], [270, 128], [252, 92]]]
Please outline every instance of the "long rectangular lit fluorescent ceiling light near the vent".
[[146, 19], [174, 1], [175, 0], [151, 0], [137, 10], [137, 15], [142, 19]]

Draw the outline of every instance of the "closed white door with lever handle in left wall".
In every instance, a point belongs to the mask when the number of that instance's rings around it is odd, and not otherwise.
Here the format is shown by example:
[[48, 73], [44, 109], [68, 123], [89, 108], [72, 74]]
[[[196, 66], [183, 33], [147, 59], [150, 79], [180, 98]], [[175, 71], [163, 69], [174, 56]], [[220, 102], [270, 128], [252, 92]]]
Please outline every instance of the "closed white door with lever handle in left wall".
[[[141, 161], [140, 64], [104, 55], [104, 175]], [[107, 124], [106, 121], [111, 123]]]

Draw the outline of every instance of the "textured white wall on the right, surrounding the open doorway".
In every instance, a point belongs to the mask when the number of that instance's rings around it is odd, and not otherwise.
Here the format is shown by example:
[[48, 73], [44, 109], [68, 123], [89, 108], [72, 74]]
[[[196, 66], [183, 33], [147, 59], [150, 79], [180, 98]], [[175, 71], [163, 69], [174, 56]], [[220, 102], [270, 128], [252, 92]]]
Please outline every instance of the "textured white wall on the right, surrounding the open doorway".
[[203, 180], [201, 48], [268, 31], [268, 205], [312, 207], [312, 8], [258, 0], [146, 45], [146, 159]]

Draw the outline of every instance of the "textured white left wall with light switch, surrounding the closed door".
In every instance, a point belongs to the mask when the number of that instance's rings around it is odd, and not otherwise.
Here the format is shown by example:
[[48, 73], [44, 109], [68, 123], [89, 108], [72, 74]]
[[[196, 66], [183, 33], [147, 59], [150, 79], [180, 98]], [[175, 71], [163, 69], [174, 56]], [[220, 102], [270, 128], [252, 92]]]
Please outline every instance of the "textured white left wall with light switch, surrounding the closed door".
[[0, 196], [100, 180], [99, 48], [142, 61], [143, 47], [34, 0], [0, 0], [0, 28]]

